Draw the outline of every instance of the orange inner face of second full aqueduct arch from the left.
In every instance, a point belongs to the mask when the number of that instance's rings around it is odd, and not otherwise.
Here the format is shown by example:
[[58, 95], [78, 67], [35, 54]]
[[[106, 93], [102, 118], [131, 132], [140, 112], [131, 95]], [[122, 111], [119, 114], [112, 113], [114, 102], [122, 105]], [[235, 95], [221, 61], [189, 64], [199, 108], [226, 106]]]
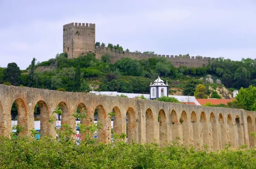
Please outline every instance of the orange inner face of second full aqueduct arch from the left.
[[40, 137], [44, 137], [45, 135], [52, 135], [52, 137], [55, 137], [55, 122], [53, 125], [49, 124], [51, 115], [47, 104], [43, 100], [39, 100], [37, 104], [40, 110]]

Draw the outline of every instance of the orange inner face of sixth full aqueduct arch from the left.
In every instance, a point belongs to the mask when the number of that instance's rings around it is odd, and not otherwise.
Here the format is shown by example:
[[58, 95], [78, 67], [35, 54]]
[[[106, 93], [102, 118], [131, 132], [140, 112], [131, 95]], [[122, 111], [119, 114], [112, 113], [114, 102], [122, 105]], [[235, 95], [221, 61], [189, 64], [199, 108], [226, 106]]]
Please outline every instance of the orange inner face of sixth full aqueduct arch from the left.
[[120, 112], [119, 107], [113, 107], [112, 111], [116, 114], [113, 119], [113, 133], [118, 135], [125, 133], [125, 119], [122, 119], [122, 113]]

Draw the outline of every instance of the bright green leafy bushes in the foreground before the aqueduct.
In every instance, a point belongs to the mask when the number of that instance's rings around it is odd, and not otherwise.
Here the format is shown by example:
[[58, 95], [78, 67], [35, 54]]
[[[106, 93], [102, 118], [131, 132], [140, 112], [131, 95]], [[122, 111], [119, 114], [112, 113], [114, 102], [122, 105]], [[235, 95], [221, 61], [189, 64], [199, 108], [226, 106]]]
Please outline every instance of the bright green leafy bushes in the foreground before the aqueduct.
[[[56, 109], [56, 111], [59, 111]], [[54, 112], [56, 113], [56, 112]], [[57, 112], [58, 113], [58, 112]], [[61, 112], [59, 113], [61, 114]], [[115, 115], [113, 112], [108, 113]], [[87, 118], [86, 111], [74, 113], [75, 118]], [[50, 121], [55, 125], [55, 120]], [[126, 144], [124, 133], [113, 133], [113, 142], [98, 143], [94, 133], [102, 129], [102, 124], [79, 124], [84, 139], [74, 139], [76, 132], [67, 124], [55, 128], [58, 138], [45, 136], [36, 140], [38, 133], [31, 130], [31, 137], [21, 136], [24, 127], [17, 125], [11, 138], [0, 137], [0, 167], [1, 168], [248, 168], [256, 166], [256, 149], [230, 150], [226, 144], [224, 150], [209, 152], [195, 151], [194, 147], [186, 149], [177, 141], [172, 145], [160, 147], [157, 144]], [[251, 135], [255, 137], [252, 132]], [[177, 138], [180, 139], [180, 138]], [[220, 162], [221, 161], [221, 162]]]

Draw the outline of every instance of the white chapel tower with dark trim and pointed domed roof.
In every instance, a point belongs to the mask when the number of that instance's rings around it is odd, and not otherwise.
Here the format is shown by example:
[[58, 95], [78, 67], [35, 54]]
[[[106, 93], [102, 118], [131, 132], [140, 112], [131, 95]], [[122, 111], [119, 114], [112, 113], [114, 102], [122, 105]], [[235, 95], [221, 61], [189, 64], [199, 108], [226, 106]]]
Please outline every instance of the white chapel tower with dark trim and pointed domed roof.
[[164, 84], [163, 80], [158, 78], [154, 81], [154, 84], [150, 84], [150, 100], [158, 99], [161, 96], [168, 96], [169, 95], [169, 85], [166, 81]]

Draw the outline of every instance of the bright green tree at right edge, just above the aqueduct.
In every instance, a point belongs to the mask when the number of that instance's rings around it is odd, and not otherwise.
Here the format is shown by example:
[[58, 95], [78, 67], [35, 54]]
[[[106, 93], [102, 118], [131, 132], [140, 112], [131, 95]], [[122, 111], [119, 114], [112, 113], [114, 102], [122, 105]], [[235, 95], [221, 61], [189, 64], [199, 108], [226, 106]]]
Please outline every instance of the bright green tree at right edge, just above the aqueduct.
[[245, 110], [256, 111], [256, 87], [241, 87], [236, 100], [244, 106]]

